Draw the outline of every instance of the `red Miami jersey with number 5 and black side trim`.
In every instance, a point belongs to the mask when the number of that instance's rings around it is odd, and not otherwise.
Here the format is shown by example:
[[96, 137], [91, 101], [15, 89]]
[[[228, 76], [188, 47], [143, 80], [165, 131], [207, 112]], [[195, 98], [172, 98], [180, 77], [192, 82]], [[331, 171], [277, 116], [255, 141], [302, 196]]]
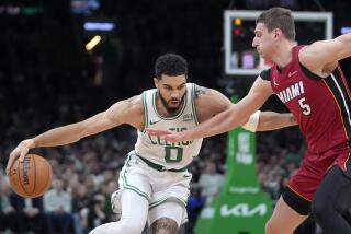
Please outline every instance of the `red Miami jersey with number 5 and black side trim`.
[[293, 47], [287, 66], [280, 69], [273, 65], [261, 78], [271, 82], [274, 93], [295, 116], [309, 152], [320, 154], [350, 145], [351, 93], [340, 67], [320, 78], [299, 62], [301, 48]]

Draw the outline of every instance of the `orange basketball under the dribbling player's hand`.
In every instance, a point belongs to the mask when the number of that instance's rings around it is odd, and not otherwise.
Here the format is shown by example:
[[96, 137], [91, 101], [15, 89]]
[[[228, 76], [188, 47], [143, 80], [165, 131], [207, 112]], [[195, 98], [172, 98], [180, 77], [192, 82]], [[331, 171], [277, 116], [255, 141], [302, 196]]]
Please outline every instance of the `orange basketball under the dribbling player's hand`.
[[52, 165], [36, 154], [25, 155], [22, 163], [18, 159], [11, 166], [9, 179], [13, 190], [25, 198], [36, 198], [45, 194], [53, 182]]

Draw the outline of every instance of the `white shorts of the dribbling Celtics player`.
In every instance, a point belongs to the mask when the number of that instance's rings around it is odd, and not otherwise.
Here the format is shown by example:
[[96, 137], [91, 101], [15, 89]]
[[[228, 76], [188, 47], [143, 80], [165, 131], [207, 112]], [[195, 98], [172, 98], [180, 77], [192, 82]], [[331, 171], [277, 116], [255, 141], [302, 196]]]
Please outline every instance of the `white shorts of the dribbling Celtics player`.
[[[152, 224], [159, 218], [171, 218], [171, 211], [162, 209], [162, 203], [179, 203], [183, 209], [181, 220], [176, 220], [179, 225], [186, 222], [186, 202], [190, 195], [192, 175], [184, 172], [159, 172], [147, 165], [134, 151], [128, 154], [120, 173], [120, 189], [112, 196], [112, 208], [121, 213], [121, 194], [125, 189], [133, 190], [149, 201], [148, 222]], [[154, 215], [155, 214], [155, 215]]]

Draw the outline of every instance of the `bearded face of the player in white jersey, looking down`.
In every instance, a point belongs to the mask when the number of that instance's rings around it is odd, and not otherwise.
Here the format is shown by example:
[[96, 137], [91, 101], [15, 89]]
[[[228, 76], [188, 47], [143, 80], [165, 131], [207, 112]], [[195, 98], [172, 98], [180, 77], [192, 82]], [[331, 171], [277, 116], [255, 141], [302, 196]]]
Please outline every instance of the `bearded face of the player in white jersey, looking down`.
[[155, 78], [154, 81], [167, 110], [177, 112], [186, 92], [186, 77], [184, 74], [174, 77], [162, 74], [161, 79]]

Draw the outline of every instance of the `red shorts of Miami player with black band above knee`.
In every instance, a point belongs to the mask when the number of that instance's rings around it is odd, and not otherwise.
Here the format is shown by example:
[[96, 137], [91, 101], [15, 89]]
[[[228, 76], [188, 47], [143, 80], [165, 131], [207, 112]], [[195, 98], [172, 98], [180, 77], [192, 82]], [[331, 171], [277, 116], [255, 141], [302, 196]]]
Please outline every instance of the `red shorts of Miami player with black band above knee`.
[[310, 202], [328, 171], [338, 166], [351, 175], [350, 149], [336, 148], [324, 154], [307, 153], [297, 171], [288, 180], [283, 194], [284, 201], [303, 215], [310, 212]]

